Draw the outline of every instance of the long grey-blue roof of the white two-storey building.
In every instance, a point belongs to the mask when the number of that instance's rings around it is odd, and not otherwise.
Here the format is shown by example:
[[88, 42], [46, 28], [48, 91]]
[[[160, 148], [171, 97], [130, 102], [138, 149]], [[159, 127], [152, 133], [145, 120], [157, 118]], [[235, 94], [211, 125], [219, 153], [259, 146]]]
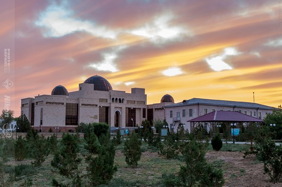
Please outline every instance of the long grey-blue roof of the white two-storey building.
[[215, 105], [215, 106], [228, 106], [228, 107], [240, 107], [240, 108], [256, 108], [256, 109], [266, 109], [266, 110], [275, 110], [277, 108], [261, 105], [257, 103], [249, 102], [239, 102], [239, 101], [225, 101], [225, 100], [213, 100], [213, 99], [200, 99], [193, 98], [189, 100], [184, 100], [180, 103], [175, 103], [166, 107], [176, 107], [176, 106], [187, 106], [187, 105]]

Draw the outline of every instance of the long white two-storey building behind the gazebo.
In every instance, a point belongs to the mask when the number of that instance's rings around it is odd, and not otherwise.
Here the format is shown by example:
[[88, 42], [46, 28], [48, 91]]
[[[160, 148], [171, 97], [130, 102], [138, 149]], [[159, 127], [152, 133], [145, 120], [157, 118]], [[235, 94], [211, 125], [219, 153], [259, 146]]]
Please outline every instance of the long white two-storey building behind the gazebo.
[[174, 130], [177, 129], [179, 123], [182, 123], [185, 129], [191, 132], [190, 122], [187, 121], [217, 110], [237, 111], [254, 118], [264, 119], [268, 113], [278, 108], [249, 102], [193, 98], [165, 106], [165, 119], [170, 127], [174, 126]]

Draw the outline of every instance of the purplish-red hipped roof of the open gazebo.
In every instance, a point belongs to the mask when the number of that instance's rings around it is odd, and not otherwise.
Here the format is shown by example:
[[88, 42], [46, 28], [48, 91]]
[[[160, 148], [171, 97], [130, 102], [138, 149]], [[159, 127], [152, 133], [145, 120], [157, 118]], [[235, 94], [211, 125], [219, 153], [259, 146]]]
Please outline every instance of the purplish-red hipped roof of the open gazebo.
[[213, 111], [187, 122], [264, 122], [253, 116], [235, 111]]

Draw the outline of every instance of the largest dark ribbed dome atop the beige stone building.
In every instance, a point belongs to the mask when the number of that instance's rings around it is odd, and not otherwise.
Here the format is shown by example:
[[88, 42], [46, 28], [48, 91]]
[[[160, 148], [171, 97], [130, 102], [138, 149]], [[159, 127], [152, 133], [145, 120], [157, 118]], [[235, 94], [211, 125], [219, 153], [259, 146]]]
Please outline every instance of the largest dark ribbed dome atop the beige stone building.
[[113, 89], [109, 81], [107, 81], [107, 79], [98, 75], [89, 77], [84, 81], [84, 83], [94, 84], [94, 90], [109, 91]]

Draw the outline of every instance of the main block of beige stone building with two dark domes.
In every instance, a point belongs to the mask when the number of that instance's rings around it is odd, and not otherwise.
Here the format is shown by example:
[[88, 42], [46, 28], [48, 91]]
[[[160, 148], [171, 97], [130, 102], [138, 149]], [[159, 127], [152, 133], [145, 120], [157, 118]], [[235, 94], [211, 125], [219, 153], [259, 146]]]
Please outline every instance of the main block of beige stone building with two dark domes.
[[56, 86], [51, 95], [22, 99], [21, 112], [39, 131], [75, 131], [77, 124], [105, 122], [111, 127], [133, 127], [146, 119], [147, 96], [144, 88], [131, 93], [113, 90], [103, 77], [92, 76], [68, 92]]

